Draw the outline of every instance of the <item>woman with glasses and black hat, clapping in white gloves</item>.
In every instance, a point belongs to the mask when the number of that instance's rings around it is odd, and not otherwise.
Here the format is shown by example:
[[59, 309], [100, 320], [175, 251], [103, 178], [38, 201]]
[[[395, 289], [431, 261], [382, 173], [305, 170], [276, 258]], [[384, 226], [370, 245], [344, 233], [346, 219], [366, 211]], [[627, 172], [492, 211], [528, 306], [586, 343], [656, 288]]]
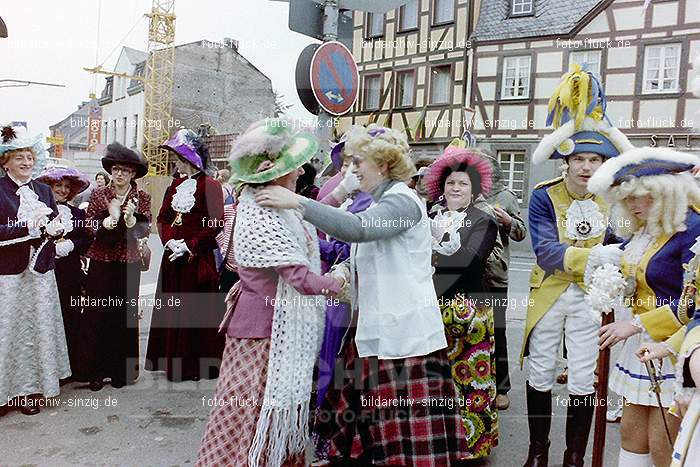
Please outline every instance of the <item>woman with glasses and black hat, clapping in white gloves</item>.
[[88, 349], [85, 377], [93, 391], [102, 389], [105, 378], [120, 388], [138, 377], [141, 242], [151, 222], [151, 196], [136, 186], [148, 171], [143, 157], [112, 143], [102, 166], [112, 183], [92, 192], [86, 220], [95, 241], [87, 252], [82, 334]]

